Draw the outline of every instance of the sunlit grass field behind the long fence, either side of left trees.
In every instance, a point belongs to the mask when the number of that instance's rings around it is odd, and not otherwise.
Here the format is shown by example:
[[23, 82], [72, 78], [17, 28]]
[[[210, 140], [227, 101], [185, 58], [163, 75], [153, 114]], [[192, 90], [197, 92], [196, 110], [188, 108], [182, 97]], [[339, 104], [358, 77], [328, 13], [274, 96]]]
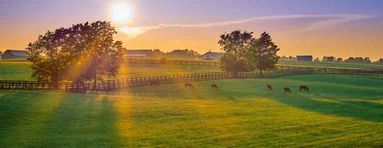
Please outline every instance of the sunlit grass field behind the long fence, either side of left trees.
[[[0, 80], [30, 80], [32, 70], [29, 65], [27, 62], [0, 62]], [[221, 70], [216, 66], [124, 63], [119, 74], [109, 79], [213, 72]]]

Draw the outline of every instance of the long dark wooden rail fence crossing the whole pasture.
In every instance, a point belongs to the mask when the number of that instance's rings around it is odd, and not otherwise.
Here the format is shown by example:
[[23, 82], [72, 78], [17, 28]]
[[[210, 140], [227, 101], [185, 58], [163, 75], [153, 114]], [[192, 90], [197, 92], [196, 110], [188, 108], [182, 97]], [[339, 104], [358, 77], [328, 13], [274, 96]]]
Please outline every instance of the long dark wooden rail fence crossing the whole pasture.
[[257, 78], [257, 77], [277, 77], [292, 74], [371, 74], [383, 75], [383, 71], [376, 70], [353, 70], [353, 69], [332, 69], [332, 68], [307, 68], [307, 67], [277, 67], [277, 70], [264, 72], [238, 72], [238, 73], [199, 73], [199, 74], [177, 74], [161, 75], [106, 80], [103, 82], [85, 82], [85, 83], [51, 83], [39, 81], [11, 81], [0, 80], [0, 88], [23, 88], [23, 89], [65, 89], [73, 90], [86, 88], [86, 90], [108, 90], [123, 87], [134, 87], [149, 85], [151, 81], [156, 80], [160, 83], [190, 82], [198, 80], [226, 79], [226, 78]]

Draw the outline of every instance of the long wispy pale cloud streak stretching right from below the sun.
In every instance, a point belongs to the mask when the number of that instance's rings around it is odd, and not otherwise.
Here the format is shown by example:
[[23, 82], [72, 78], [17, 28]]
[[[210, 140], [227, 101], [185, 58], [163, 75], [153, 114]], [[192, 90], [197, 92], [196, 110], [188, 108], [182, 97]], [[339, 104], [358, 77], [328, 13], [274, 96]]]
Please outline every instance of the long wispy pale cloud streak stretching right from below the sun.
[[202, 24], [159, 24], [156, 26], [139, 26], [139, 27], [121, 27], [120, 31], [125, 33], [128, 38], [136, 38], [137, 36], [152, 30], [159, 29], [162, 27], [214, 27], [214, 26], [225, 26], [232, 24], [241, 24], [250, 21], [262, 21], [262, 20], [270, 20], [270, 19], [296, 19], [296, 18], [325, 18], [324, 20], [316, 21], [312, 24], [309, 24], [305, 28], [300, 28], [296, 30], [284, 31], [284, 32], [299, 32], [299, 31], [308, 31], [319, 29], [323, 27], [328, 27], [332, 25], [337, 25], [340, 23], [358, 20], [358, 19], [367, 19], [374, 18], [374, 15], [354, 15], [354, 14], [329, 14], [329, 15], [273, 15], [273, 16], [262, 16], [262, 17], [252, 17], [241, 20], [233, 20], [233, 21], [223, 21], [223, 22], [213, 22], [213, 23], [202, 23]]

